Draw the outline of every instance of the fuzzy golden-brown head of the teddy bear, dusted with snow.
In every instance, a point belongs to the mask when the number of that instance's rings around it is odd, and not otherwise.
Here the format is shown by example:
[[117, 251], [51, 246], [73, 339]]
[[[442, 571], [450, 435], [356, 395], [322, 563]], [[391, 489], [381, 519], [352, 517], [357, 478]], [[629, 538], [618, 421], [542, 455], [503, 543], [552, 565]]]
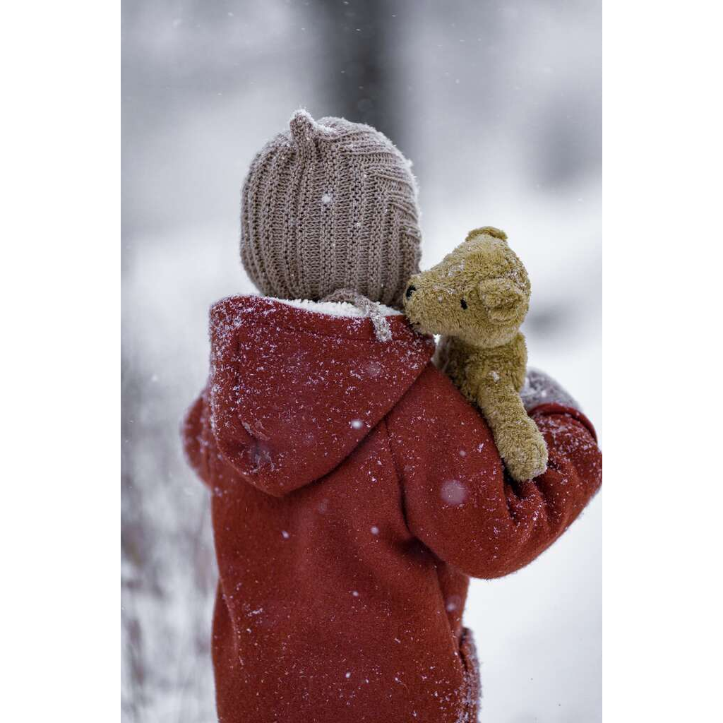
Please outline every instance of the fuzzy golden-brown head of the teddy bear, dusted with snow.
[[436, 266], [409, 279], [404, 312], [422, 333], [492, 347], [515, 337], [529, 301], [527, 271], [507, 235], [484, 226], [470, 231]]

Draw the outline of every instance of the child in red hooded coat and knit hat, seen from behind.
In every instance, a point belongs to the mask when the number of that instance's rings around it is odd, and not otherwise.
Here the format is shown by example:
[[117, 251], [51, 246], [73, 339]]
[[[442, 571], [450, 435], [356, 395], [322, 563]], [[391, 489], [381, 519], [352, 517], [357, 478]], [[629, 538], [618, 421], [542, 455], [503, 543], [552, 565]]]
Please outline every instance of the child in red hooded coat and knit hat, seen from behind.
[[213, 492], [223, 723], [476, 721], [469, 576], [527, 565], [600, 485], [591, 424], [539, 375], [526, 394], [549, 468], [508, 482], [396, 310], [417, 217], [408, 162], [368, 126], [297, 111], [252, 163], [241, 258], [265, 296], [212, 307], [184, 423]]

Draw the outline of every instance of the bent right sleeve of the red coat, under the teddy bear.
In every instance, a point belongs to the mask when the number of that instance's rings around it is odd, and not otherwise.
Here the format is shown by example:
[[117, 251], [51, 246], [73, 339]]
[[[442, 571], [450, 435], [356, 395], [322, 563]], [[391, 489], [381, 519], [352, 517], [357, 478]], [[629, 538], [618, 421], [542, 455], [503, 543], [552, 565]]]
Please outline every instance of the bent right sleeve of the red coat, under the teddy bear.
[[597, 492], [594, 429], [570, 406], [530, 411], [549, 450], [547, 471], [515, 484], [482, 414], [429, 367], [388, 417], [408, 528], [449, 565], [476, 578], [519, 570], [570, 526]]

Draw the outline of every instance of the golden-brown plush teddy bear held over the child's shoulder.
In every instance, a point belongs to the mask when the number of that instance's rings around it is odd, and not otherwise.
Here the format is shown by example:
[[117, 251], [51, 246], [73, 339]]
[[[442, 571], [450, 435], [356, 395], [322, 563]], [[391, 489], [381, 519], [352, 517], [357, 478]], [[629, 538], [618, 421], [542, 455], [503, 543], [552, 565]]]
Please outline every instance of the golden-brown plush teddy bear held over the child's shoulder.
[[482, 410], [510, 476], [547, 469], [547, 445], [520, 398], [527, 347], [520, 332], [530, 300], [527, 271], [492, 226], [475, 228], [433, 268], [412, 276], [404, 311], [422, 333], [440, 334], [438, 363]]

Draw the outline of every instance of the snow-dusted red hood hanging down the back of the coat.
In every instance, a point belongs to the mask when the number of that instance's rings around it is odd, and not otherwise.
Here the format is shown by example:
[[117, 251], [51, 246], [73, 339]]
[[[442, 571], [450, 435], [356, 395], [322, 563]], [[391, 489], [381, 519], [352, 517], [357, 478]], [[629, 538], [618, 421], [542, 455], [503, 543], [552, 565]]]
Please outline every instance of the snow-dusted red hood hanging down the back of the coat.
[[[231, 296], [211, 307], [211, 427], [228, 463], [281, 496], [328, 474], [406, 393], [435, 351], [403, 315], [377, 341], [348, 304]], [[328, 311], [333, 310], [335, 314]]]

